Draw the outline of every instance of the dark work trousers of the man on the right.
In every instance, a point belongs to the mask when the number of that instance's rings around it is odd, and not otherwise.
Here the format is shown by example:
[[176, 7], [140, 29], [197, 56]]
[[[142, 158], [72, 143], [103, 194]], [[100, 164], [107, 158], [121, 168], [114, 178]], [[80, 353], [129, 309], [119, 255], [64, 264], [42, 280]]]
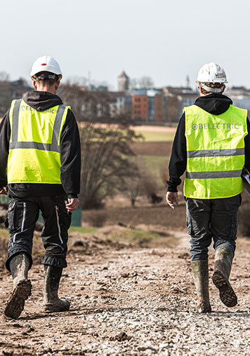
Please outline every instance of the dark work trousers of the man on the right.
[[191, 260], [208, 259], [208, 247], [213, 238], [213, 248], [227, 247], [235, 253], [237, 213], [241, 195], [231, 198], [186, 198], [187, 233], [191, 236]]

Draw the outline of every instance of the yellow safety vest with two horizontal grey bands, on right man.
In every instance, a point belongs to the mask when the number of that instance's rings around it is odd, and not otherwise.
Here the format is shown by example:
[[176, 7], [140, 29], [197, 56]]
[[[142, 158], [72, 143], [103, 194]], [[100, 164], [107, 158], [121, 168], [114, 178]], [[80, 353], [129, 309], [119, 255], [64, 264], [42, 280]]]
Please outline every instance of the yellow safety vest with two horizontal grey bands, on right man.
[[221, 115], [185, 107], [187, 168], [184, 195], [213, 199], [236, 196], [244, 189], [244, 137], [247, 111], [230, 105]]

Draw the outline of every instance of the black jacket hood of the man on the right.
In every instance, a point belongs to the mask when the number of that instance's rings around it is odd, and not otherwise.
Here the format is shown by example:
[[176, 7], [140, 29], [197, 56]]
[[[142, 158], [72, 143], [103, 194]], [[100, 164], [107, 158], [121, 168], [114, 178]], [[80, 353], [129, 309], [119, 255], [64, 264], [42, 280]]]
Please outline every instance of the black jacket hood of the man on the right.
[[221, 94], [204, 95], [204, 97], [198, 97], [195, 101], [197, 107], [200, 107], [213, 115], [223, 114], [228, 110], [231, 104], [232, 100], [230, 97]]

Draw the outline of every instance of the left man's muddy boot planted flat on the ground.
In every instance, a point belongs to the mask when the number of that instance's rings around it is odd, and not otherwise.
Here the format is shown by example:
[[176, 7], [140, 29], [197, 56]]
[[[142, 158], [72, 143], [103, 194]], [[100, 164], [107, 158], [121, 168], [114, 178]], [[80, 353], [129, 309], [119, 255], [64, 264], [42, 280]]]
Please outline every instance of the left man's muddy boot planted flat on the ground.
[[70, 302], [58, 298], [62, 268], [44, 265], [44, 311], [59, 312], [70, 309]]

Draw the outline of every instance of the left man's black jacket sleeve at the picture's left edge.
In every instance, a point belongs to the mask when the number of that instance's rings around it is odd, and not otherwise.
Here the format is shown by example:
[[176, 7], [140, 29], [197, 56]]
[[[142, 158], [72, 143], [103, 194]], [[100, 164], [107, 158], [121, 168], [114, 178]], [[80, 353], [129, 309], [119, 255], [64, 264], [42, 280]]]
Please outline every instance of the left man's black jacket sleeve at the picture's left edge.
[[0, 188], [7, 185], [8, 142], [11, 136], [9, 110], [0, 123]]

